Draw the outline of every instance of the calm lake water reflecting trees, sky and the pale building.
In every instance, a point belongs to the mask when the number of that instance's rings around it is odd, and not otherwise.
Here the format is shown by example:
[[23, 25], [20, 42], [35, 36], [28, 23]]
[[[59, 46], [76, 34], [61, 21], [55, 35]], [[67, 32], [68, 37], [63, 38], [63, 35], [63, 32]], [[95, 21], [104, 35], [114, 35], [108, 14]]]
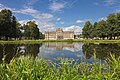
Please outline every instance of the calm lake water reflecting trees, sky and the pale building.
[[94, 61], [93, 55], [96, 53], [97, 61], [105, 61], [110, 58], [110, 54], [120, 56], [120, 44], [83, 44], [83, 43], [68, 43], [68, 42], [46, 42], [41, 44], [16, 45], [4, 44], [0, 45], [0, 62], [3, 55], [6, 55], [7, 63], [15, 57], [33, 56], [44, 58], [45, 60], [57, 61], [61, 59], [74, 59], [78, 62]]

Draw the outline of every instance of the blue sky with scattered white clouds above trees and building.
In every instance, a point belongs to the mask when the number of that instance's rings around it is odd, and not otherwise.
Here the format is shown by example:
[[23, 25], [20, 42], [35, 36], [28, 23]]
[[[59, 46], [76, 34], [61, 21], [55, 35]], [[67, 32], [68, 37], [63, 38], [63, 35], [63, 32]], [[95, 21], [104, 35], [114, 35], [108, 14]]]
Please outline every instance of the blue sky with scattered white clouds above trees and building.
[[10, 9], [21, 24], [35, 21], [43, 33], [63, 28], [80, 34], [86, 21], [120, 12], [120, 0], [0, 0], [2, 9]]

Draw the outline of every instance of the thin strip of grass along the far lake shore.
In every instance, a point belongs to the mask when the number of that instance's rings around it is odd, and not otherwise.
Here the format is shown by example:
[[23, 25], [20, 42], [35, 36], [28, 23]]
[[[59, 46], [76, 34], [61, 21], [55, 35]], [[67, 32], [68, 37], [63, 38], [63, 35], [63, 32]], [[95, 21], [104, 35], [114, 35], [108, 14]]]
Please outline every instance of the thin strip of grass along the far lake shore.
[[42, 42], [120, 43], [120, 40], [16, 40], [0, 41], [0, 44], [40, 44]]

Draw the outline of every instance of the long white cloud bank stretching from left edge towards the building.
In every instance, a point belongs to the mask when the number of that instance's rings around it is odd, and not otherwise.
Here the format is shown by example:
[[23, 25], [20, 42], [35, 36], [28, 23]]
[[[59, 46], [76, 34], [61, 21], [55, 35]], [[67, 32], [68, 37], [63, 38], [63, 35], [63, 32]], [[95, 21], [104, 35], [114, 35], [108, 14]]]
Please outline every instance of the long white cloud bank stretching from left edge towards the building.
[[26, 7], [22, 9], [13, 9], [0, 4], [0, 10], [2, 9], [10, 9], [13, 13], [17, 14], [25, 14], [31, 16], [33, 19], [25, 19], [20, 20], [19, 22], [23, 25], [26, 24], [28, 21], [35, 21], [38, 24], [38, 27], [41, 32], [45, 31], [53, 31], [55, 30], [55, 25], [50, 23], [53, 20], [54, 15], [50, 13], [43, 13], [34, 8]]

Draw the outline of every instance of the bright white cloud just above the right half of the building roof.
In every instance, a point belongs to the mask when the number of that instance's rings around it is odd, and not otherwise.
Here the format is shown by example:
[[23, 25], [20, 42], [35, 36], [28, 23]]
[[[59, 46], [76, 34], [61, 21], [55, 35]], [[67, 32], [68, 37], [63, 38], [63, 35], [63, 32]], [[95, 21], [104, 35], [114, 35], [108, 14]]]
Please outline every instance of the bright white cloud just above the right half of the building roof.
[[64, 31], [74, 31], [75, 34], [81, 34], [82, 33], [82, 27], [72, 25], [70, 27], [63, 28]]

